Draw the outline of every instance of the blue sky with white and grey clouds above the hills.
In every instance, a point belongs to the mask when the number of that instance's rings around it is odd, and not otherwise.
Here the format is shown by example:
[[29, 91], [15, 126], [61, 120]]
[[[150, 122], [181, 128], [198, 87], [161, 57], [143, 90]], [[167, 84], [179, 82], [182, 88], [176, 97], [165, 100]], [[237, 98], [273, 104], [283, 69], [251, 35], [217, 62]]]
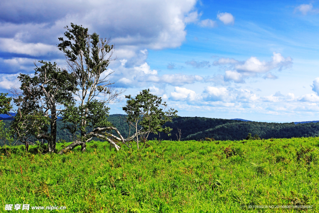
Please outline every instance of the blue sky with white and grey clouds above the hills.
[[318, 1], [2, 0], [0, 92], [34, 60], [65, 67], [56, 45], [71, 22], [115, 44], [123, 95], [150, 88], [179, 116], [319, 120]]

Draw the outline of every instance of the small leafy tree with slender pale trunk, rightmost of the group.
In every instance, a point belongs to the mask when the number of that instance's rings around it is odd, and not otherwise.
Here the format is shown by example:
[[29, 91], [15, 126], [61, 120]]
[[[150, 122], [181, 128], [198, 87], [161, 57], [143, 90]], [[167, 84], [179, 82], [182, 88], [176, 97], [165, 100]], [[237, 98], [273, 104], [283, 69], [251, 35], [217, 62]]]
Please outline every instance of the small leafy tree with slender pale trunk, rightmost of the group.
[[[127, 122], [130, 126], [133, 126], [135, 130], [135, 139], [138, 146], [138, 135], [141, 132], [145, 132], [145, 139], [147, 139], [149, 133], [164, 132], [169, 135], [172, 130], [169, 127], [164, 127], [166, 122], [172, 122], [172, 117], [176, 116], [177, 110], [172, 108], [167, 110], [166, 102], [162, 103], [162, 98], [152, 95], [150, 89], [144, 89], [135, 98], [131, 95], [126, 95], [126, 105], [122, 109], [128, 114]], [[137, 129], [137, 125], [142, 126], [141, 129]]]

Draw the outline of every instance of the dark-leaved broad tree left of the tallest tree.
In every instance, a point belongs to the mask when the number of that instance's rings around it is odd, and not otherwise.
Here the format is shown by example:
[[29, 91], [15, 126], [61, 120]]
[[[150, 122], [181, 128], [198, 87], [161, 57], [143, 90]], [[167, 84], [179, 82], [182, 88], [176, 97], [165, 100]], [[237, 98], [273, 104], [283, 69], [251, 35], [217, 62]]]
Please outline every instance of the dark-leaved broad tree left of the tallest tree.
[[[26, 141], [31, 136], [45, 139], [48, 141], [47, 151], [54, 152], [56, 120], [61, 114], [61, 107], [72, 103], [72, 94], [77, 87], [74, 76], [66, 70], [61, 70], [56, 63], [39, 62], [43, 65], [38, 67], [34, 63], [34, 77], [28, 74], [18, 76], [21, 93], [15, 90], [14, 102], [18, 106], [18, 111], [11, 128], [21, 141]], [[50, 132], [48, 123], [51, 127]]]

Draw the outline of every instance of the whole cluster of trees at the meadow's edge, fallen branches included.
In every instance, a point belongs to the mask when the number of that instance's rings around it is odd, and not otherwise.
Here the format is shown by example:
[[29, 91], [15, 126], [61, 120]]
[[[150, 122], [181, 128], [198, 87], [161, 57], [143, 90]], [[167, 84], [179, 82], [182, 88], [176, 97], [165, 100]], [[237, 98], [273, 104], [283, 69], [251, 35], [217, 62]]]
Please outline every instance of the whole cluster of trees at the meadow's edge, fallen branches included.
[[[176, 116], [177, 110], [167, 108], [161, 97], [152, 95], [149, 89], [136, 97], [125, 95], [127, 114], [125, 122], [129, 133], [124, 138], [120, 131], [108, 121], [109, 103], [122, 101], [120, 95], [125, 89], [113, 87], [108, 77], [113, 73], [107, 67], [113, 56], [114, 45], [110, 39], [88, 33], [88, 28], [71, 23], [64, 27], [64, 37], [58, 38], [57, 48], [66, 58], [66, 68], [55, 62], [36, 62], [34, 75], [19, 74], [19, 88], [11, 88], [9, 93], [0, 94], [0, 114], [12, 115], [9, 128], [0, 121], [0, 140], [20, 141], [26, 151], [34, 140], [46, 141], [46, 152], [56, 152], [59, 118], [63, 129], [72, 136], [72, 143], [61, 150], [62, 154], [77, 146], [85, 151], [86, 143], [93, 138], [108, 141], [116, 150], [124, 144], [132, 147], [132, 142], [147, 139], [149, 133], [171, 131], [163, 127]], [[101, 98], [102, 97], [102, 98]]]

